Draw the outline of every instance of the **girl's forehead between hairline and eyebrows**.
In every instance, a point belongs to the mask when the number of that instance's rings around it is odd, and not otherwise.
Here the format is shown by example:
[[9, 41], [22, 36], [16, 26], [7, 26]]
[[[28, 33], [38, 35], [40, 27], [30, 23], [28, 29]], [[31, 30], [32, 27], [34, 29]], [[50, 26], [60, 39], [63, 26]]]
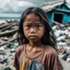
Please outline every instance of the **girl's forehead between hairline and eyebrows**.
[[24, 22], [32, 22], [32, 21], [36, 22], [36, 21], [40, 21], [40, 19], [37, 14], [30, 13], [25, 16]]

